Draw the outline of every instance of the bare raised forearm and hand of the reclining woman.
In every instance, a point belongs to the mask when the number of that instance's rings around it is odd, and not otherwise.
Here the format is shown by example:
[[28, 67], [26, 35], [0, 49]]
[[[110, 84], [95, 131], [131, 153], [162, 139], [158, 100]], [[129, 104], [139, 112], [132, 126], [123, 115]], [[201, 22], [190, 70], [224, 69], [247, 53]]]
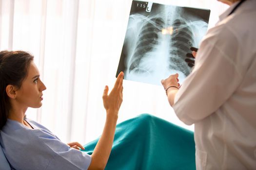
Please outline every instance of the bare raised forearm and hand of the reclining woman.
[[103, 104], [106, 109], [106, 122], [98, 143], [92, 153], [92, 161], [89, 170], [104, 170], [112, 149], [115, 130], [118, 120], [118, 111], [122, 103], [123, 72], [119, 73], [114, 88], [108, 94], [108, 86], [103, 92]]

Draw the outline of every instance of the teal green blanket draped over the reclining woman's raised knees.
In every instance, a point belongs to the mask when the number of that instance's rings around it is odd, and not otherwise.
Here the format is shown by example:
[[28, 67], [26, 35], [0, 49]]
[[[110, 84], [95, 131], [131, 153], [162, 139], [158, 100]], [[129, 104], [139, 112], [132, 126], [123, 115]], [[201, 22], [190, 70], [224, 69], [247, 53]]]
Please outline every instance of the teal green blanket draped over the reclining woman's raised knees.
[[126, 120], [117, 125], [105, 170], [196, 170], [194, 134], [149, 114]]

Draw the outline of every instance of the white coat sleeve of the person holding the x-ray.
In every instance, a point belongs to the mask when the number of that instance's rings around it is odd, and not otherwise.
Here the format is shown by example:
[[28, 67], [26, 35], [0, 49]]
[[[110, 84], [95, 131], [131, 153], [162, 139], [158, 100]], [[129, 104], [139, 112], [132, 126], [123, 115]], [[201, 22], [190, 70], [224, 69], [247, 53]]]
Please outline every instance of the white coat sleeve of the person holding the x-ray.
[[[233, 43], [229, 43], [233, 42]], [[235, 43], [234, 43], [235, 42]], [[213, 114], [239, 86], [239, 46], [228, 28], [209, 30], [202, 41], [195, 68], [178, 90], [174, 110], [177, 117], [191, 125]]]

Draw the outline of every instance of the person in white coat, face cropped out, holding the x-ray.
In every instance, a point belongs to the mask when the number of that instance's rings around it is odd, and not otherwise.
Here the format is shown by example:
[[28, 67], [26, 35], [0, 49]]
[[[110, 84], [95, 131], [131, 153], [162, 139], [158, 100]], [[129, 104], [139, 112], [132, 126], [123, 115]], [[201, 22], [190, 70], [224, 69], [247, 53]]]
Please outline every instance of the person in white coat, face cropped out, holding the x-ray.
[[210, 29], [195, 68], [161, 83], [177, 117], [195, 124], [197, 170], [256, 170], [256, 0], [230, 8]]

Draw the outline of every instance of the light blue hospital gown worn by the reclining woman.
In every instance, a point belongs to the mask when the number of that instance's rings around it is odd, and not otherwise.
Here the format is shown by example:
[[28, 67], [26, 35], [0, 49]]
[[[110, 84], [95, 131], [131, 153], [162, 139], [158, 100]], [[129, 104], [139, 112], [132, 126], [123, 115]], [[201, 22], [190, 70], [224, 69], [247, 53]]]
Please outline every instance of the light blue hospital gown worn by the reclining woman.
[[8, 119], [0, 131], [0, 144], [15, 170], [87, 170], [91, 156], [70, 148], [39, 123], [26, 119], [34, 128]]

